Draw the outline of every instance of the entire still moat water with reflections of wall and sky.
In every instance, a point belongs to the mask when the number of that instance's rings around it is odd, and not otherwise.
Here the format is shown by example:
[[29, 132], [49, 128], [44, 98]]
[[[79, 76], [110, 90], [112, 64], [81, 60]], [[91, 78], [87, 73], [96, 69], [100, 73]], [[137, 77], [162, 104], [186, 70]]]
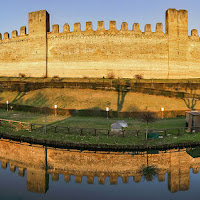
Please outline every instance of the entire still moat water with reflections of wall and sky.
[[88, 152], [0, 140], [0, 199], [200, 199], [200, 148]]

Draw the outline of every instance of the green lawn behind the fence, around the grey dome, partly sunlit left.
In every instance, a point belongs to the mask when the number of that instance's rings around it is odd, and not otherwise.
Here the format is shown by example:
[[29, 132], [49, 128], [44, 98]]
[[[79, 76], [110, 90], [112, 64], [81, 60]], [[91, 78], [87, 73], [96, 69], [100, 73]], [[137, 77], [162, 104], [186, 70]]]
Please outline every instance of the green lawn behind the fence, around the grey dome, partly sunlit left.
[[185, 117], [169, 118], [169, 119], [158, 119], [153, 123], [147, 124], [142, 122], [140, 119], [106, 119], [102, 117], [80, 117], [80, 116], [54, 116], [45, 115], [39, 113], [29, 113], [20, 111], [6, 111], [0, 109], [0, 118], [9, 119], [21, 122], [30, 122], [34, 124], [46, 124], [66, 126], [66, 127], [77, 127], [77, 128], [103, 128], [109, 129], [110, 125], [117, 120], [125, 120], [128, 123], [127, 129], [170, 129], [179, 128], [185, 126]]

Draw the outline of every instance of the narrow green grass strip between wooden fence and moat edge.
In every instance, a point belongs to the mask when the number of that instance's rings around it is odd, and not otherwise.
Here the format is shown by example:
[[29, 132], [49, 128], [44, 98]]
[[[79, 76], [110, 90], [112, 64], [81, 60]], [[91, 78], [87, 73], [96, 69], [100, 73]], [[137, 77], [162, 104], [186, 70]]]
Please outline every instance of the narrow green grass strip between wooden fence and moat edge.
[[[110, 135], [107, 136], [107, 132], [99, 132], [96, 136], [94, 136], [94, 132], [84, 132], [83, 135], [80, 135], [80, 132], [67, 133], [67, 129], [62, 129], [62, 131], [54, 132], [53, 129], [48, 129], [47, 132], [43, 132], [43, 127], [40, 129], [36, 129], [32, 132], [25, 130], [16, 131], [13, 128], [8, 126], [0, 126], [0, 132], [9, 133], [12, 135], [18, 135], [23, 137], [31, 137], [36, 139], [47, 139], [54, 141], [66, 141], [66, 142], [76, 142], [83, 144], [115, 144], [115, 145], [147, 145], [147, 146], [159, 146], [165, 144], [176, 144], [176, 143], [187, 143], [187, 142], [198, 142], [200, 141], [199, 133], [186, 133], [181, 132], [181, 136], [177, 136], [177, 133], [170, 132], [164, 138], [146, 140], [145, 132], [140, 132], [138, 136], [136, 136], [135, 132], [126, 134], [125, 137], [122, 135]], [[169, 132], [168, 132], [169, 133]]]

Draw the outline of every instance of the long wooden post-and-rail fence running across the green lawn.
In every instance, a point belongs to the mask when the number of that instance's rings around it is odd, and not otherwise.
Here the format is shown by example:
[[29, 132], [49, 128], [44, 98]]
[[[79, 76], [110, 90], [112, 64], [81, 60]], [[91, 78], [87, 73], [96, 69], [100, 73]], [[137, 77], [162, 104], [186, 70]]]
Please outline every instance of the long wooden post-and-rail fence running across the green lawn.
[[183, 134], [192, 134], [200, 132], [200, 127], [176, 127], [164, 129], [122, 129], [110, 130], [105, 128], [82, 128], [82, 127], [67, 127], [49, 124], [34, 124], [29, 122], [20, 122], [14, 120], [0, 119], [0, 126], [12, 128], [15, 131], [26, 130], [33, 133], [40, 134], [66, 134], [79, 136], [106, 136], [106, 137], [135, 137], [147, 139], [149, 133], [156, 133], [159, 138], [166, 138], [169, 136], [178, 137]]

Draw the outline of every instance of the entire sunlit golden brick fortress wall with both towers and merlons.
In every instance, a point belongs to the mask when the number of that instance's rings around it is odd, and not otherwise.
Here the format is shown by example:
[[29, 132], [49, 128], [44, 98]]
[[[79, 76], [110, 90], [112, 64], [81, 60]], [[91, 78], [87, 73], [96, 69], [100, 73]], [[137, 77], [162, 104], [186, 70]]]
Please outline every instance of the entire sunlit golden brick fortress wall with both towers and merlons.
[[156, 32], [151, 25], [141, 32], [139, 24], [123, 22], [121, 30], [116, 22], [110, 22], [105, 30], [104, 22], [98, 22], [96, 31], [92, 22], [81, 31], [80, 23], [74, 31], [65, 24], [49, 28], [49, 14], [45, 11], [29, 13], [29, 34], [26, 27], [0, 35], [0, 76], [60, 76], [103, 77], [110, 72], [116, 77], [133, 78], [196, 78], [200, 77], [200, 42], [197, 30], [188, 36], [188, 12], [166, 11], [166, 31], [157, 23]]

